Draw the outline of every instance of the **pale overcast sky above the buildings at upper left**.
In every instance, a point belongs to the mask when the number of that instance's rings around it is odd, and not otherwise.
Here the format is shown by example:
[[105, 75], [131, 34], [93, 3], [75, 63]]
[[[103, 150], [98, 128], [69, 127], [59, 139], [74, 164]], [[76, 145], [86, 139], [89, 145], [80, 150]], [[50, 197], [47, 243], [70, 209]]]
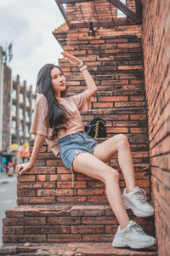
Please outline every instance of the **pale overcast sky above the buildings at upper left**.
[[52, 31], [64, 22], [55, 0], [0, 0], [0, 46], [13, 44], [13, 77], [35, 88], [39, 69], [62, 57]]

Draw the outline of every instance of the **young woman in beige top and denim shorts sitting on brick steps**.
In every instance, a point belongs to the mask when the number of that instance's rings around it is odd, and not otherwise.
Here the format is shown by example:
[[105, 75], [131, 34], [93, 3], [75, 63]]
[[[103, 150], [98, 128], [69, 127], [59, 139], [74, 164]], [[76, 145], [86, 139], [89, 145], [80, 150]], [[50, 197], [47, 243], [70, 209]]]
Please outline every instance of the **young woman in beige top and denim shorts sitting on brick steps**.
[[[154, 214], [153, 207], [146, 201], [144, 190], [135, 184], [127, 137], [119, 134], [104, 143], [97, 143], [84, 131], [80, 111], [90, 109], [90, 98], [94, 96], [97, 87], [88, 73], [88, 67], [80, 59], [66, 52], [62, 54], [68, 61], [80, 67], [88, 88], [78, 95], [64, 97], [65, 76], [60, 68], [54, 64], [42, 67], [37, 76], [39, 96], [31, 125], [31, 133], [36, 135], [35, 143], [30, 161], [16, 166], [16, 172], [21, 175], [31, 170], [46, 139], [54, 154], [60, 154], [61, 160], [71, 173], [72, 170], [81, 172], [105, 183], [108, 201], [120, 224], [112, 241], [114, 247], [142, 248], [155, 245], [156, 239], [147, 236], [140, 225], [130, 220], [127, 215], [126, 209], [132, 209], [139, 217]], [[122, 195], [119, 172], [106, 164], [116, 152], [127, 186]]]

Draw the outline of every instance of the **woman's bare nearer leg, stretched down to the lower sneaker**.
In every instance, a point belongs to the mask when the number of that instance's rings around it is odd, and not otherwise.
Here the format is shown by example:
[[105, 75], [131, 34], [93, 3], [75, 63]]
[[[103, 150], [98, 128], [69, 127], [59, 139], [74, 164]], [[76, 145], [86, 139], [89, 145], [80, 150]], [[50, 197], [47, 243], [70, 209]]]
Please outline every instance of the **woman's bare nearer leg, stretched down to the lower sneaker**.
[[111, 166], [106, 165], [103, 161], [89, 153], [77, 154], [72, 166], [75, 172], [81, 172], [105, 183], [108, 201], [121, 228], [124, 229], [130, 219], [122, 202], [119, 173], [116, 169], [111, 168]]

